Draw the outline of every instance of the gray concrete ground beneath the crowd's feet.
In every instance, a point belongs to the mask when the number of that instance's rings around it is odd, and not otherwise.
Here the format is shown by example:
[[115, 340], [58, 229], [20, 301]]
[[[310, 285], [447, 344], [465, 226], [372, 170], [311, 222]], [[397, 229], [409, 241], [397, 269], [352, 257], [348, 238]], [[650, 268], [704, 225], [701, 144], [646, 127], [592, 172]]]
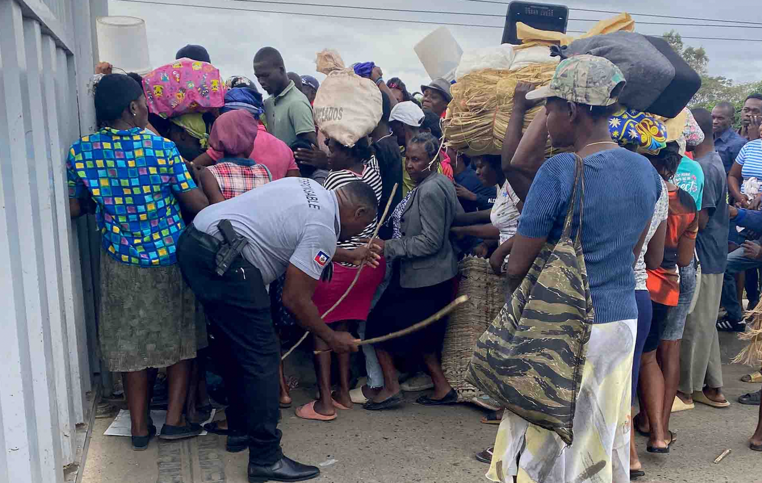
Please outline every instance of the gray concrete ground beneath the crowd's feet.
[[[741, 344], [722, 334], [723, 359]], [[287, 371], [288, 372], [288, 371]], [[762, 453], [748, 449], [748, 437], [757, 424], [758, 408], [739, 405], [739, 395], [759, 389], [739, 378], [744, 366], [724, 366], [725, 395], [732, 405], [714, 409], [696, 405], [674, 414], [677, 432], [672, 452], [657, 456], [645, 452], [645, 438], [637, 437], [648, 483], [750, 483], [762, 481]], [[315, 394], [313, 386], [293, 392], [303, 404]], [[482, 411], [470, 405], [424, 408], [412, 404], [394, 411], [370, 412], [356, 407], [341, 411], [329, 423], [302, 421], [293, 409], [283, 411], [283, 450], [300, 462], [322, 468], [314, 481], [325, 483], [464, 483], [487, 481], [487, 465], [473, 454], [494, 441], [497, 426], [479, 423]], [[153, 440], [144, 452], [133, 451], [126, 437], [103, 436], [111, 420], [96, 420], [82, 483], [244, 483], [247, 453], [226, 453], [224, 437], [208, 435], [193, 440]], [[719, 464], [725, 449], [732, 453]], [[560, 482], [549, 482], [560, 483]], [[603, 482], [601, 482], [603, 483]]]

